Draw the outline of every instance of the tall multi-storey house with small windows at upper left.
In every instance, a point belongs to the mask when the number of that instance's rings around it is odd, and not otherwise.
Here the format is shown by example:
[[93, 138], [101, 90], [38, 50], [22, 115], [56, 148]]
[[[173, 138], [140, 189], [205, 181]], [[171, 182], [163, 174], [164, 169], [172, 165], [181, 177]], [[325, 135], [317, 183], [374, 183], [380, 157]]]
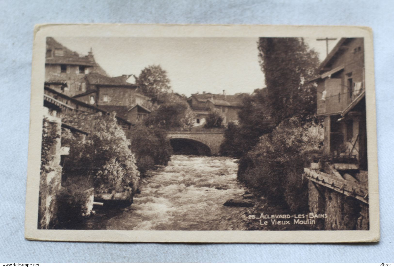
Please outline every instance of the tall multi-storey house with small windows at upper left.
[[46, 38], [45, 86], [64, 95], [74, 96], [86, 91], [85, 74], [106, 72], [95, 62], [92, 51], [80, 56], [52, 37]]

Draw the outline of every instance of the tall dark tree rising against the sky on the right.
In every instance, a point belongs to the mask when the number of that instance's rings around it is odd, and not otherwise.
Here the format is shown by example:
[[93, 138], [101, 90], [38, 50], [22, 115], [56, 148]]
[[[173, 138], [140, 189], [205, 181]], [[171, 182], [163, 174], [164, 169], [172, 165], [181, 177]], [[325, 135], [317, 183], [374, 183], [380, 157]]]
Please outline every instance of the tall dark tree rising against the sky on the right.
[[316, 87], [307, 81], [316, 74], [318, 54], [302, 38], [260, 38], [258, 50], [275, 124], [293, 116], [304, 120], [314, 115]]

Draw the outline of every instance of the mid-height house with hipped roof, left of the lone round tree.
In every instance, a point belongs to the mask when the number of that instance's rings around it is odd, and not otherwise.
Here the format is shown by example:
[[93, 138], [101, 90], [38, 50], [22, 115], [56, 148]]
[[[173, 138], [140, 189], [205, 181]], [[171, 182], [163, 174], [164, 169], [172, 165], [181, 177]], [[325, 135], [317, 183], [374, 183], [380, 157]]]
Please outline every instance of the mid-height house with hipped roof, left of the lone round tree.
[[86, 91], [73, 98], [100, 107], [106, 111], [115, 111], [117, 116], [136, 124], [151, 110], [150, 98], [138, 93], [138, 87], [126, 82], [129, 75], [107, 77], [99, 73], [86, 74], [83, 81]]

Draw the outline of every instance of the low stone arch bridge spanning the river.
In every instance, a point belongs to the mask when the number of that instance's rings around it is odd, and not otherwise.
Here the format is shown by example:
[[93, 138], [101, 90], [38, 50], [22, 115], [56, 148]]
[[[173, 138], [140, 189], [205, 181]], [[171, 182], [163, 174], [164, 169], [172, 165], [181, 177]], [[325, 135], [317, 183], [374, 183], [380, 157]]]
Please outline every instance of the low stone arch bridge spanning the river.
[[198, 129], [169, 131], [168, 137], [175, 154], [216, 155], [224, 140], [223, 130]]

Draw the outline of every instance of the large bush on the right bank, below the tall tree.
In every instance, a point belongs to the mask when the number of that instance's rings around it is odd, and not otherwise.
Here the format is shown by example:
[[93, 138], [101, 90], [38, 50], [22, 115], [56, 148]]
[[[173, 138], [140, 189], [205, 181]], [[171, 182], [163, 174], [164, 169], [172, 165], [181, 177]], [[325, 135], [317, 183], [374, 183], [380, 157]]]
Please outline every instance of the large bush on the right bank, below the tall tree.
[[293, 211], [302, 210], [307, 205], [307, 190], [301, 175], [322, 139], [318, 124], [302, 125], [297, 118], [283, 121], [240, 159], [238, 179]]

